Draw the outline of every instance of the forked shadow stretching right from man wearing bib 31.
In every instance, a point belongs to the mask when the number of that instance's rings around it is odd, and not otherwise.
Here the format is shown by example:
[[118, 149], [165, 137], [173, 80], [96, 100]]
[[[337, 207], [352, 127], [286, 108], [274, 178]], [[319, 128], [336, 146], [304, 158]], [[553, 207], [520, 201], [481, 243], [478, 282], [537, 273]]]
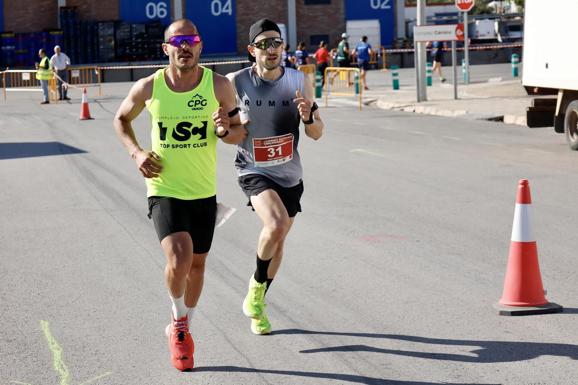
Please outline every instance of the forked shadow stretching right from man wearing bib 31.
[[[566, 309], [564, 309], [566, 311]], [[325, 353], [329, 351], [371, 351], [374, 353], [396, 354], [397, 356], [408, 356], [416, 358], [429, 358], [430, 360], [491, 363], [491, 362], [514, 362], [532, 360], [540, 356], [560, 356], [578, 360], [578, 345], [566, 343], [543, 343], [543, 342], [512, 342], [512, 341], [481, 341], [481, 340], [461, 340], [427, 338], [412, 335], [399, 334], [371, 334], [371, 333], [344, 333], [344, 332], [321, 332], [301, 329], [277, 330], [272, 334], [321, 334], [321, 335], [342, 335], [366, 338], [386, 338], [397, 339], [409, 342], [421, 342], [435, 345], [455, 345], [455, 346], [479, 346], [481, 349], [469, 351], [477, 357], [466, 356], [465, 354], [447, 353], [427, 353], [423, 351], [405, 351], [393, 349], [381, 349], [379, 347], [367, 345], [345, 345], [322, 347], [320, 349], [301, 350], [299, 353]]]

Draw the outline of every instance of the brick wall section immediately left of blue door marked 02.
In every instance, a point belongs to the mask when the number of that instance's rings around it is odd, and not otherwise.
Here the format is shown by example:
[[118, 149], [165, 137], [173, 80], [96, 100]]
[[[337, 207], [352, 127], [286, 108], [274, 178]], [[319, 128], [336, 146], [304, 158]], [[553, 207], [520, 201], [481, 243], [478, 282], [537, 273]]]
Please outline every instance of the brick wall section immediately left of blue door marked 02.
[[295, 1], [297, 41], [305, 42], [307, 51], [314, 53], [318, 46], [310, 44], [310, 36], [329, 35], [327, 49], [337, 47], [341, 34], [345, 32], [345, 0], [332, 0], [331, 5], [304, 5], [303, 3], [303, 0]]

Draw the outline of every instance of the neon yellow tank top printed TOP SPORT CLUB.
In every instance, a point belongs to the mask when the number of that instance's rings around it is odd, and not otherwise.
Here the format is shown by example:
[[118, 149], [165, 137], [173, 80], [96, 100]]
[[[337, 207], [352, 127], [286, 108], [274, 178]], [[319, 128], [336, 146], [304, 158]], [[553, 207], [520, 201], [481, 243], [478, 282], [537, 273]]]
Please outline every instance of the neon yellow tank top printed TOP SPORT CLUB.
[[[168, 67], [167, 67], [168, 68]], [[217, 141], [212, 114], [219, 103], [213, 90], [213, 72], [203, 69], [201, 83], [192, 91], [172, 91], [165, 69], [154, 76], [150, 112], [151, 150], [164, 167], [158, 178], [146, 179], [147, 197], [201, 199], [217, 194]]]

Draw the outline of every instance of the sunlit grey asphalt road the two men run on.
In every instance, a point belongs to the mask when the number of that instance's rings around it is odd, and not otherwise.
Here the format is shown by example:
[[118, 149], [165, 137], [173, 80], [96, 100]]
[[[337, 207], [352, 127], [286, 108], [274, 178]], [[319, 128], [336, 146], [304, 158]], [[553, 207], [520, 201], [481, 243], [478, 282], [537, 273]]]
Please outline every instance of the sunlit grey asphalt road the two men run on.
[[[571, 384], [578, 380], [576, 161], [564, 136], [364, 108], [321, 108], [303, 135], [303, 212], [267, 294], [273, 333], [241, 305], [261, 223], [218, 146], [218, 228], [195, 313], [195, 370], [164, 335], [165, 257], [103, 84], [95, 120], [39, 93], [0, 102], [0, 382]], [[150, 145], [149, 116], [134, 124]], [[250, 127], [248, 127], [250, 129]], [[544, 288], [560, 314], [501, 317], [518, 180], [529, 179]], [[41, 322], [41, 320], [46, 322]], [[99, 377], [101, 376], [101, 377]]]

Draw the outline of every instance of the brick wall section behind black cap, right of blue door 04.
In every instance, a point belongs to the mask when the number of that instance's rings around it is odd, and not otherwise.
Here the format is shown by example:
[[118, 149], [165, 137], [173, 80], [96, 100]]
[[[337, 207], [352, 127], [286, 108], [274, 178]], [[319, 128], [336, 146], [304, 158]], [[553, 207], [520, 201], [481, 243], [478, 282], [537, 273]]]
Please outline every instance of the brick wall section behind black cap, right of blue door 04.
[[[303, 2], [303, 0], [300, 1]], [[249, 29], [255, 21], [268, 17], [275, 23], [285, 24], [287, 27], [287, 0], [236, 0], [235, 12], [239, 54], [247, 53]]]

